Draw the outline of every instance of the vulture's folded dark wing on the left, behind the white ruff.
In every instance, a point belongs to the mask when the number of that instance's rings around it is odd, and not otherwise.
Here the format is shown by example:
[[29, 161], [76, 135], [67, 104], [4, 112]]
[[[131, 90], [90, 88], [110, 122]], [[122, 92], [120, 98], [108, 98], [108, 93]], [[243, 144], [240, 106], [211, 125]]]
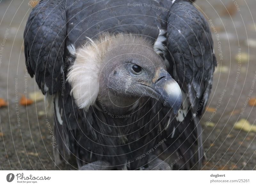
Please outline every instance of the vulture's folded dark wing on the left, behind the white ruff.
[[66, 37], [63, 8], [65, 1], [40, 1], [30, 13], [24, 31], [26, 67], [44, 94], [54, 94], [60, 87]]

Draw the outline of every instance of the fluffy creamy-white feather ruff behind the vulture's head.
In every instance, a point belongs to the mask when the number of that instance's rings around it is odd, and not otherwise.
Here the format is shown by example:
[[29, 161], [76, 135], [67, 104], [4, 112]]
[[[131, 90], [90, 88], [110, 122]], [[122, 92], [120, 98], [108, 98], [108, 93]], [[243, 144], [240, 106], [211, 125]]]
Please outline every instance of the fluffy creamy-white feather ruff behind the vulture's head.
[[75, 49], [68, 46], [71, 54], [74, 53], [76, 60], [68, 70], [67, 81], [71, 84], [71, 94], [75, 98], [79, 108], [88, 108], [93, 105], [99, 94], [99, 74], [102, 65], [102, 52], [108, 50], [113, 35], [104, 34], [98, 40], [87, 42], [81, 48]]

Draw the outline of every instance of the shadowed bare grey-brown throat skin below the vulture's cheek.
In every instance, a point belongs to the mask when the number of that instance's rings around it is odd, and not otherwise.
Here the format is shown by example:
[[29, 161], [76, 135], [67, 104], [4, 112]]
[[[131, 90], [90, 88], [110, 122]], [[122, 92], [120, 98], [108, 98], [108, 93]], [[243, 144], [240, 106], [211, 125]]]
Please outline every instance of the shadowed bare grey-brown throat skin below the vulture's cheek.
[[[102, 81], [101, 81], [102, 82]], [[99, 109], [108, 114], [115, 116], [128, 115], [132, 111], [139, 98], [124, 97], [120, 94], [114, 94], [111, 89], [108, 89], [106, 84], [100, 85], [99, 95], [97, 98], [97, 105]]]

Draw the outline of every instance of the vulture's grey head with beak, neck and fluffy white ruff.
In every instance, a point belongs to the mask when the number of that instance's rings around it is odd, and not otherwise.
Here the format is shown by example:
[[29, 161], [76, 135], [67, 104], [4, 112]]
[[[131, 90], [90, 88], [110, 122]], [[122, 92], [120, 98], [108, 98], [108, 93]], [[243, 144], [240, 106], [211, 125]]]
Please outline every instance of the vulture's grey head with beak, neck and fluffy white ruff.
[[103, 105], [124, 114], [140, 101], [156, 99], [177, 113], [182, 103], [178, 83], [166, 71], [164, 60], [144, 36], [104, 34], [75, 49], [68, 82], [79, 108]]

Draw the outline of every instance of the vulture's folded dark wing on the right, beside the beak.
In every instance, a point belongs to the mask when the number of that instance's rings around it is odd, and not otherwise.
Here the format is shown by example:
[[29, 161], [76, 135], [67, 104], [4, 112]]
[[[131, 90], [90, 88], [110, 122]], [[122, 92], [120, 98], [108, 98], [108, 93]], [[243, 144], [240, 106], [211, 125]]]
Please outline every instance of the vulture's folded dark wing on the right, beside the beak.
[[[199, 162], [200, 167], [203, 142], [199, 121], [212, 88], [212, 75], [217, 62], [208, 23], [191, 2], [175, 1], [172, 5], [167, 25], [167, 48], [172, 58], [170, 66], [174, 69], [173, 76], [179, 80], [189, 105], [185, 119], [174, 123], [184, 134], [180, 140], [186, 141], [177, 148], [190, 151], [186, 157], [190, 166]], [[191, 147], [194, 145], [198, 150], [193, 152]], [[193, 158], [195, 154], [197, 159]]]

